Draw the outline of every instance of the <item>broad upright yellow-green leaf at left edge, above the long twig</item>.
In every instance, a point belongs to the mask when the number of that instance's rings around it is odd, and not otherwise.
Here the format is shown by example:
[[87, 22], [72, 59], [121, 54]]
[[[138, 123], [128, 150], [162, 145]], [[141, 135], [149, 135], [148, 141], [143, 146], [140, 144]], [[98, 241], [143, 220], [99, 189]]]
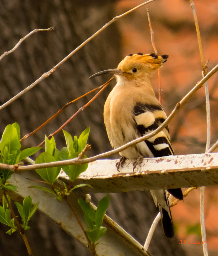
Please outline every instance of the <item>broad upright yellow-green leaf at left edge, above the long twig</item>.
[[[14, 127], [15, 126], [15, 127]], [[4, 148], [8, 148], [9, 154], [17, 153], [20, 150], [21, 144], [19, 140], [19, 134], [17, 132], [17, 125], [7, 125], [2, 134], [0, 150], [3, 153]]]

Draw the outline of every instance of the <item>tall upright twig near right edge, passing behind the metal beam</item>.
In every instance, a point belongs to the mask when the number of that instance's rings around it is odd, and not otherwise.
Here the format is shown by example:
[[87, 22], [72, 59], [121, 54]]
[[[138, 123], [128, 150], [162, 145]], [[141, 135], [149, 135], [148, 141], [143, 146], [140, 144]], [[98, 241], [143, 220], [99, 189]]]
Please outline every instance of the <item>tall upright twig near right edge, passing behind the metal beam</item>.
[[[190, 0], [191, 8], [194, 16], [194, 22], [198, 37], [198, 45], [199, 45], [199, 52], [200, 52], [200, 59], [201, 59], [201, 65], [202, 65], [202, 76], [204, 77], [207, 74], [207, 66], [204, 64], [204, 57], [203, 57], [203, 50], [202, 50], [202, 44], [201, 44], [201, 38], [200, 38], [200, 30], [198, 25], [198, 18], [195, 11], [195, 5], [192, 0]], [[207, 110], [207, 144], [206, 144], [206, 150], [208, 151], [210, 147], [210, 100], [209, 100], [209, 90], [208, 90], [208, 84], [205, 83], [205, 96], [206, 96], [206, 110]], [[205, 215], [204, 215], [204, 193], [205, 193], [205, 187], [200, 188], [200, 224], [201, 224], [201, 236], [203, 243], [203, 251], [204, 256], [208, 256], [208, 250], [207, 250], [207, 243], [206, 243], [206, 229], [205, 229]]]

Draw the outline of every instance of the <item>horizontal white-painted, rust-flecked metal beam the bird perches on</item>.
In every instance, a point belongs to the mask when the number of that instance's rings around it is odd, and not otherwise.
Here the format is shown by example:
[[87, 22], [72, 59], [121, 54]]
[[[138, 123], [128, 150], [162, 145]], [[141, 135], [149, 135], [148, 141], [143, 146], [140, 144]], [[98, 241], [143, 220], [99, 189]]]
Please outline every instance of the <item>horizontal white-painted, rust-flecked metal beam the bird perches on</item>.
[[[132, 170], [132, 160], [126, 160], [120, 172], [117, 160], [97, 160], [89, 163], [86, 172], [73, 183], [90, 184], [87, 193], [117, 193], [133, 190], [188, 188], [217, 185], [218, 153], [145, 158]], [[60, 179], [68, 180], [64, 172]]]

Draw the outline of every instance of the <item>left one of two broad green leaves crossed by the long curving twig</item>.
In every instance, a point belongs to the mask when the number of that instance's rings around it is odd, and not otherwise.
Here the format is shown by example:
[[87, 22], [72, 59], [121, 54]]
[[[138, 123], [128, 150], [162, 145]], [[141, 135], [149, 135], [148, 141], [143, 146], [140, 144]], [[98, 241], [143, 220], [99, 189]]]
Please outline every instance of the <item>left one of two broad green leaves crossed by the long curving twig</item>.
[[[36, 158], [35, 163], [49, 163], [55, 162], [56, 159], [50, 155], [49, 153], [43, 152]], [[50, 168], [42, 168], [36, 170], [36, 172], [41, 176], [41, 178], [51, 184], [54, 183], [58, 174], [60, 173], [61, 167], [50, 167]]]

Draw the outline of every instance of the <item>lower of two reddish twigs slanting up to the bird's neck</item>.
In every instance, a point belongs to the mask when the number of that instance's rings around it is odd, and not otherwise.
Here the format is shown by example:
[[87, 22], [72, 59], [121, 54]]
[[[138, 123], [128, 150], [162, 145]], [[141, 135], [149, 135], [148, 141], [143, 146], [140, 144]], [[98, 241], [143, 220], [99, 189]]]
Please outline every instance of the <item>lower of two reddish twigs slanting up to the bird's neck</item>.
[[[79, 108], [76, 113], [74, 113], [62, 126], [60, 126], [54, 133], [50, 134], [48, 136], [48, 139], [51, 139], [52, 136], [55, 136], [57, 133], [59, 133], [79, 112], [83, 111], [90, 103], [92, 103], [100, 94], [101, 92], [109, 85], [110, 81], [114, 78], [114, 75], [106, 82], [103, 84], [103, 87], [101, 90], [95, 94], [95, 96], [87, 102], [83, 107]], [[38, 147], [41, 147], [45, 143], [45, 140], [43, 140]]]

